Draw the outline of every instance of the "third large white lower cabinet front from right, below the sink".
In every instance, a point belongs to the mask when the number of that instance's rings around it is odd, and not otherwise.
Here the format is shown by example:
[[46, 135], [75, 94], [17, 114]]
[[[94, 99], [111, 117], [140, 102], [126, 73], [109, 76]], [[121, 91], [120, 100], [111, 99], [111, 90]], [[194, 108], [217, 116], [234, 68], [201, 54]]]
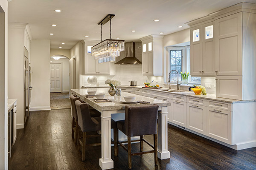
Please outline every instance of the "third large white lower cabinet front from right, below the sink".
[[171, 100], [170, 122], [186, 127], [186, 102]]

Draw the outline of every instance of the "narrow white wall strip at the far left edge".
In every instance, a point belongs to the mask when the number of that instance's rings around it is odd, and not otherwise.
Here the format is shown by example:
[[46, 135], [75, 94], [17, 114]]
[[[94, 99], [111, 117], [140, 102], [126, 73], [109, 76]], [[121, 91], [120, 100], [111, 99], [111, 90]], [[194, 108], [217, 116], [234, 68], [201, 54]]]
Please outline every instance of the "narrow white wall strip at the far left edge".
[[0, 169], [8, 169], [8, 1], [0, 0]]

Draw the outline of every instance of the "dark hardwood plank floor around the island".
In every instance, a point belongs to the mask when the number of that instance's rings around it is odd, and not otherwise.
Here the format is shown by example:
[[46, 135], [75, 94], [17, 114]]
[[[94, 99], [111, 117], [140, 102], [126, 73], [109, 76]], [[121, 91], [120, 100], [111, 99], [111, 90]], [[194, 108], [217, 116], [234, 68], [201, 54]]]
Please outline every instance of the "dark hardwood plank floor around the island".
[[[30, 112], [25, 128], [17, 131], [9, 169], [100, 169], [101, 147], [87, 147], [86, 161], [81, 161], [71, 138], [71, 121], [70, 109]], [[153, 153], [132, 156], [132, 169], [256, 169], [256, 147], [236, 151], [172, 125], [168, 128], [171, 158], [158, 159], [155, 167]], [[145, 138], [152, 143], [153, 137]], [[133, 151], [139, 148], [139, 143], [132, 144]], [[146, 144], [144, 148], [151, 149]], [[112, 159], [114, 169], [128, 169], [122, 147], [116, 158], [112, 147]]]

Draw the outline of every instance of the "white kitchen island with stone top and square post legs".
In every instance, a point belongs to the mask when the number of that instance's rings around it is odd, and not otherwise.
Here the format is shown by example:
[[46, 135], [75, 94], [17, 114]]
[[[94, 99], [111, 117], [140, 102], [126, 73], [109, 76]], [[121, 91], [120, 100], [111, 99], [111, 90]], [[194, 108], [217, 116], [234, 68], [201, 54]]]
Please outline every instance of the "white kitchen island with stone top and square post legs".
[[[84, 102], [86, 102], [91, 107], [95, 108], [102, 113], [102, 157], [99, 159], [99, 165], [102, 169], [113, 168], [113, 160], [111, 159], [111, 114], [115, 113], [125, 113], [126, 105], [159, 105], [158, 112], [158, 142], [157, 142], [157, 156], [160, 159], [170, 158], [170, 152], [168, 151], [167, 142], [167, 132], [168, 132], [168, 109], [167, 107], [171, 105], [170, 102], [166, 102], [159, 99], [153, 99], [145, 96], [140, 96], [136, 94], [129, 94], [122, 92], [122, 96], [109, 96], [108, 88], [97, 88], [97, 93], [105, 93], [109, 99], [113, 99], [112, 102], [95, 102], [93, 98], [87, 98], [87, 91], [89, 89], [70, 89], [71, 94], [79, 96]], [[123, 96], [135, 96], [136, 101], [146, 101], [149, 104], [124, 104], [120, 101], [124, 101]]]

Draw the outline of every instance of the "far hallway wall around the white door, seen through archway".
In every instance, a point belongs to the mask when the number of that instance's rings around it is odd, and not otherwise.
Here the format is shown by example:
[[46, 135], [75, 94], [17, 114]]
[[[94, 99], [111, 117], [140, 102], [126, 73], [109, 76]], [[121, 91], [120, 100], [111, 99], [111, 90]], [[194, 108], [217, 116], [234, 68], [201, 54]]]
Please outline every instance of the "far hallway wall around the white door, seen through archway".
[[50, 58], [50, 63], [61, 63], [61, 92], [69, 92], [69, 59], [61, 58], [55, 60]]

